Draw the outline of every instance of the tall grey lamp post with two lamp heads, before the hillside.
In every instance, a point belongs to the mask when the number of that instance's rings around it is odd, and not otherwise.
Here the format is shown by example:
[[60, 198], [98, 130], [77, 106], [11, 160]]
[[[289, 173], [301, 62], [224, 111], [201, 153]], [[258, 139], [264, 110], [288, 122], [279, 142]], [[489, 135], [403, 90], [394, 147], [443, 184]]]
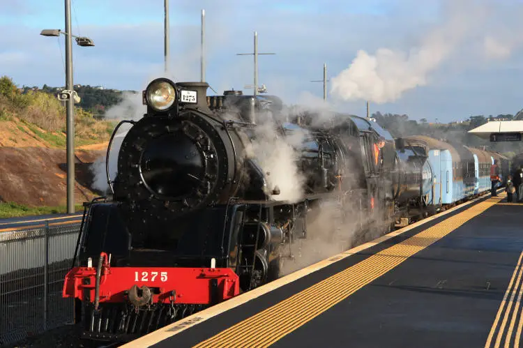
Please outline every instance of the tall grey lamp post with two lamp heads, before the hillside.
[[67, 141], [67, 213], [75, 213], [75, 119], [74, 119], [74, 102], [78, 97], [75, 95], [73, 86], [73, 48], [72, 38], [82, 47], [94, 46], [93, 40], [86, 37], [74, 36], [71, 33], [71, 1], [66, 1], [66, 31], [60, 29], [45, 29], [40, 35], [42, 36], [60, 36], [62, 33], [66, 36], [66, 90], [59, 94], [60, 100], [66, 100], [66, 141]]

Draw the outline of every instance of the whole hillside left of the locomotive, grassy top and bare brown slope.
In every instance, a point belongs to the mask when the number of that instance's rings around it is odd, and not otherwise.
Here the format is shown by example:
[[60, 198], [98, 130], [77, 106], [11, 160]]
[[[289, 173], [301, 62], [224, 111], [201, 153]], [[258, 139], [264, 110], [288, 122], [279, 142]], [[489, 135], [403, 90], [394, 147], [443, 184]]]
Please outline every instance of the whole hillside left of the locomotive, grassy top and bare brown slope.
[[[75, 107], [76, 204], [96, 195], [90, 165], [114, 126]], [[21, 93], [0, 77], [0, 218], [66, 211], [65, 162], [65, 104], [43, 91]]]

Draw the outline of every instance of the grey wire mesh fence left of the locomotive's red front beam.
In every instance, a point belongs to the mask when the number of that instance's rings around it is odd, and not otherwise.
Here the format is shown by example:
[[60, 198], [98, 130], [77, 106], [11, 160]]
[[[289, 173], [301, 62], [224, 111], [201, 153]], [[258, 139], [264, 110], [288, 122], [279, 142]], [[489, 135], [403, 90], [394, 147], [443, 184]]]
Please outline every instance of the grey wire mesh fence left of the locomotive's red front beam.
[[80, 224], [0, 233], [0, 347], [73, 324], [74, 300], [62, 298]]

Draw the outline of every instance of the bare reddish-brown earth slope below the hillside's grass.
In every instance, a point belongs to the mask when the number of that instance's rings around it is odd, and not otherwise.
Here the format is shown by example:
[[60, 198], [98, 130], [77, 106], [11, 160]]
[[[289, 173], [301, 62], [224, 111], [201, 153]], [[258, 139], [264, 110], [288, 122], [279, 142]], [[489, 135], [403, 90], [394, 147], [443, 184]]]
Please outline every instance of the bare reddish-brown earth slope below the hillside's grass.
[[[36, 132], [35, 132], [36, 130]], [[66, 204], [66, 150], [45, 136], [58, 137], [17, 120], [0, 122], [0, 202], [26, 206]], [[79, 146], [75, 151], [75, 201], [93, 199], [92, 162], [103, 156], [107, 142]]]

